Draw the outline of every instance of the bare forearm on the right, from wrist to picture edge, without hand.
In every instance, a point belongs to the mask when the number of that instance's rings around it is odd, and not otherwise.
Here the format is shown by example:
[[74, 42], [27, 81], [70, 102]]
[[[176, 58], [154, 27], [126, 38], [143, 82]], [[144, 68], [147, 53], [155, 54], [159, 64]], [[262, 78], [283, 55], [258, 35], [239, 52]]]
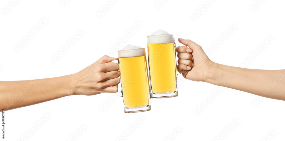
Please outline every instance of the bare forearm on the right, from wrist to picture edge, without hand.
[[213, 63], [206, 82], [258, 96], [285, 100], [285, 70], [257, 70]]

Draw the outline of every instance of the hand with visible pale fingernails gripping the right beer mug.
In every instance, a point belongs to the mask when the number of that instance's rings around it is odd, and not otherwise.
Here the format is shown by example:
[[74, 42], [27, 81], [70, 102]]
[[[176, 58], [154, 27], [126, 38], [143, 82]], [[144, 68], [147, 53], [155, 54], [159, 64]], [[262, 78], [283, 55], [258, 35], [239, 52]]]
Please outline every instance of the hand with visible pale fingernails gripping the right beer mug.
[[178, 38], [178, 41], [186, 45], [176, 47], [176, 51], [178, 52], [178, 72], [182, 73], [186, 79], [206, 82], [208, 76], [211, 74], [214, 62], [208, 58], [200, 45], [191, 40], [181, 38]]

